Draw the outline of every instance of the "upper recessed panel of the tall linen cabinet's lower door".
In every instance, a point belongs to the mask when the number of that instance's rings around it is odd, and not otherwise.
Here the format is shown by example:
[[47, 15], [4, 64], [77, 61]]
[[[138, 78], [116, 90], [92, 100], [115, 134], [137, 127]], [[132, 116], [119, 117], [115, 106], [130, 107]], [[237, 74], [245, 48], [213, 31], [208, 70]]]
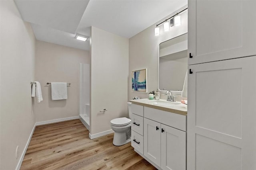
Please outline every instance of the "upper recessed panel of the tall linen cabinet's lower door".
[[242, 68], [206, 69], [195, 74], [196, 126], [241, 138]]

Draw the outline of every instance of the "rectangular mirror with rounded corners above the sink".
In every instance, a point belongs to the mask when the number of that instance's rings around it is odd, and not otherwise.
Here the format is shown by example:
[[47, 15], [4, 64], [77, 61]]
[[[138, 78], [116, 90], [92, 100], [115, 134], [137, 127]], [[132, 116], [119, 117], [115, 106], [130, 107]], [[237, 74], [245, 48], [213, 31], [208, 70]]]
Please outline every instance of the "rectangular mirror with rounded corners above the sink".
[[180, 95], [188, 69], [188, 33], [159, 44], [158, 89]]

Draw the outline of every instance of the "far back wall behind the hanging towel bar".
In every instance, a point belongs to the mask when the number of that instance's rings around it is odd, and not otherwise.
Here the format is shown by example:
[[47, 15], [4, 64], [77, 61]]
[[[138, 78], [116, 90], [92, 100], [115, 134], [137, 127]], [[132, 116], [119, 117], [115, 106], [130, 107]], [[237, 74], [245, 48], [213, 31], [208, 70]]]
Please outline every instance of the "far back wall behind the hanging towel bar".
[[[90, 63], [89, 51], [36, 41], [36, 80], [43, 101], [35, 104], [36, 122], [79, 115], [79, 63]], [[46, 82], [69, 82], [68, 99], [52, 100]]]

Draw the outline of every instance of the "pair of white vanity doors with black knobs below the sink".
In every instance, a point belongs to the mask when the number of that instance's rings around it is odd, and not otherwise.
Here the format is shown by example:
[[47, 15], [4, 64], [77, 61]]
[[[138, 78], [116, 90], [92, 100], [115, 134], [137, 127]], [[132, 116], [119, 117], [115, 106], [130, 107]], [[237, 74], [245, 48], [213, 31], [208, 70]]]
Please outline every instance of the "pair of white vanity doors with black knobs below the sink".
[[185, 170], [186, 132], [144, 118], [144, 155], [163, 170]]

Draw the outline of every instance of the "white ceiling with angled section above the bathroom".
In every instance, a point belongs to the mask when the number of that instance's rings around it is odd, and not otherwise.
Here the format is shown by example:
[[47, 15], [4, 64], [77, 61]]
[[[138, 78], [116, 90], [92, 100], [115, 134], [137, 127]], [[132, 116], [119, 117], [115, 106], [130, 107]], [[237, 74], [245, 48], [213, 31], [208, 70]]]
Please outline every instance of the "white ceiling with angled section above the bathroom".
[[130, 38], [187, 4], [187, 0], [15, 0], [36, 39], [89, 50], [90, 27]]

